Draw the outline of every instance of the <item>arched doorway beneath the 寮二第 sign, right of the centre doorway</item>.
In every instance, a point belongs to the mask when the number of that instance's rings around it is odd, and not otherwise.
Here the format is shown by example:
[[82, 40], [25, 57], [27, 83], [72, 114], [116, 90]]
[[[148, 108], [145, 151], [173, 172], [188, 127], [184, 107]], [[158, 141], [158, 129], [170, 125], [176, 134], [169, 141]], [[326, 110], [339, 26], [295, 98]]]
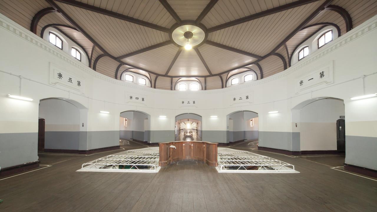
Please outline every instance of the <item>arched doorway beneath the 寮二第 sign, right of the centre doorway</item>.
[[250, 141], [248, 146], [258, 146], [258, 114], [253, 111], [235, 111], [227, 115], [227, 143]]

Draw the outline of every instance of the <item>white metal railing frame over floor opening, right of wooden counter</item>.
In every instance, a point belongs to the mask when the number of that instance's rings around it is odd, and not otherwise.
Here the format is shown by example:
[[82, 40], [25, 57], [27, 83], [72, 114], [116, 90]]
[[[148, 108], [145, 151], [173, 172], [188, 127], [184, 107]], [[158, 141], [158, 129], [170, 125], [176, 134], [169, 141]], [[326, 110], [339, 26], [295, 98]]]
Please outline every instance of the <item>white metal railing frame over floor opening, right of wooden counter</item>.
[[218, 147], [217, 158], [219, 173], [300, 173], [292, 164], [226, 147]]

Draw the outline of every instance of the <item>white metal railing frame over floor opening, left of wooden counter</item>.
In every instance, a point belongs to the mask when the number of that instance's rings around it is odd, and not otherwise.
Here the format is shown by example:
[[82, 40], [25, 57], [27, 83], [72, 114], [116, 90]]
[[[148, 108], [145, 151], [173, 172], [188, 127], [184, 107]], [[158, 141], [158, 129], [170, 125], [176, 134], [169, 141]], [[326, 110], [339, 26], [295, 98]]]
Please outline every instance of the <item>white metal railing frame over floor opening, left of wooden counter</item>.
[[81, 172], [158, 172], [159, 147], [133, 149], [84, 163]]

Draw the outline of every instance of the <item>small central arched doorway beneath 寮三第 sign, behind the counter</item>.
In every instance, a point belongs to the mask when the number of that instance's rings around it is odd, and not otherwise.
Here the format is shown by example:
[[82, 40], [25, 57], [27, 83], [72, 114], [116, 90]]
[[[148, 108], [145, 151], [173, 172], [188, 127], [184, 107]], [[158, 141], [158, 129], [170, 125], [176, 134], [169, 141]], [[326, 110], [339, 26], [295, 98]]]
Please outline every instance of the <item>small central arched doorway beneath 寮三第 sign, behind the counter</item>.
[[179, 114], [175, 117], [175, 141], [201, 141], [202, 117], [198, 114]]

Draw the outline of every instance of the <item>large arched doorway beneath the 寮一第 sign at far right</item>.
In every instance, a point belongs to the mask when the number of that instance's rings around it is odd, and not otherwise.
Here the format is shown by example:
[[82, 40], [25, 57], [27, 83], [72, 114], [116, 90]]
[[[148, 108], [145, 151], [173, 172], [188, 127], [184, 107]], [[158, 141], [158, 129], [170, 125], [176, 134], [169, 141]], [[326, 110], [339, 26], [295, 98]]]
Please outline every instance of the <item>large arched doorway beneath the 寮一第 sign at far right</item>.
[[319, 97], [292, 109], [293, 149], [301, 154], [335, 154], [345, 151], [345, 108], [339, 98]]

